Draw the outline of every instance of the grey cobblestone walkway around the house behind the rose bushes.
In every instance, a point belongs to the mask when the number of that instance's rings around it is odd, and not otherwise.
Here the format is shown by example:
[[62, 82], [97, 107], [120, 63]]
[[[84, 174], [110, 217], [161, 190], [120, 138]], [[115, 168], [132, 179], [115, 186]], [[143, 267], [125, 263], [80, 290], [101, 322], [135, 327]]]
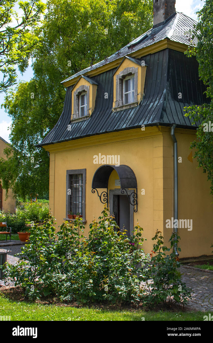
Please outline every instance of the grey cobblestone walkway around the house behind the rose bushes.
[[[11, 252], [8, 254], [8, 262], [15, 264], [18, 257], [14, 254], [21, 252], [21, 245], [10, 246]], [[1, 249], [0, 251], [6, 251]], [[186, 286], [192, 287], [192, 297], [189, 300], [186, 308], [191, 311], [213, 311], [213, 272], [205, 272], [200, 269], [187, 268], [184, 265], [181, 267], [182, 281]], [[4, 281], [0, 281], [0, 285], [4, 286]], [[9, 286], [14, 286], [10, 283]]]

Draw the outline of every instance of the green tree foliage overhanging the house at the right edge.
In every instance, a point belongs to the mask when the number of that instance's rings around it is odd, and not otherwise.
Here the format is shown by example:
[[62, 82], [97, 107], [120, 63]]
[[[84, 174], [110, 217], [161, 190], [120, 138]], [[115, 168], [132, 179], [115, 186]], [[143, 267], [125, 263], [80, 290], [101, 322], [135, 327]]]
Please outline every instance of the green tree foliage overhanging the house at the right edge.
[[[198, 24], [194, 29], [194, 37], [198, 39], [197, 48], [189, 47], [188, 56], [196, 56], [199, 63], [199, 76], [207, 85], [206, 95], [209, 103], [201, 106], [186, 108], [186, 116], [200, 120], [201, 125], [197, 129], [197, 140], [191, 143], [191, 149], [195, 148], [194, 157], [197, 158], [198, 167], [203, 168], [210, 180], [211, 194], [213, 194], [213, 2], [205, 0], [203, 8], [197, 12]], [[192, 37], [193, 38], [193, 37]], [[209, 123], [210, 122], [210, 123]], [[211, 126], [212, 123], [212, 126]], [[207, 130], [208, 124], [208, 130]], [[209, 125], [210, 124], [210, 125]], [[209, 130], [210, 128], [210, 130]]]

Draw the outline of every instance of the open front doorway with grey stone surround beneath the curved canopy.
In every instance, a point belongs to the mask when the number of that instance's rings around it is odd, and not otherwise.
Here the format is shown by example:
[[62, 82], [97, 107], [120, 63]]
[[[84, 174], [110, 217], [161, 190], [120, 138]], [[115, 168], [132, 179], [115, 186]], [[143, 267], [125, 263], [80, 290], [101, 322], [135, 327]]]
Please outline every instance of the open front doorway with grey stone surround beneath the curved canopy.
[[[132, 190], [128, 190], [128, 194], [131, 192]], [[109, 191], [109, 208], [120, 230], [127, 230], [127, 234], [132, 235], [133, 206], [130, 205], [128, 197], [121, 194], [120, 189]]]

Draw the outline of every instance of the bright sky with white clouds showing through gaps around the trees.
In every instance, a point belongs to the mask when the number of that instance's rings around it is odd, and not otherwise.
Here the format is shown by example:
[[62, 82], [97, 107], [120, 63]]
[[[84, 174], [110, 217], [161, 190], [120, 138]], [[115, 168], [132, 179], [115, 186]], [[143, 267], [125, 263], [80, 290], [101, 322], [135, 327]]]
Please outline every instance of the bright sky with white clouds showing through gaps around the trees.
[[[46, 2], [46, 0], [43, 0], [43, 2]], [[188, 15], [192, 19], [197, 19], [196, 12], [200, 10], [203, 7], [203, 1], [202, 0], [176, 0], [176, 11], [177, 12], [183, 12], [184, 14]], [[29, 67], [22, 75], [18, 70], [18, 81], [29, 81], [32, 76], [32, 68], [31, 64], [29, 64]], [[4, 102], [4, 96], [5, 94], [0, 94], [0, 104]], [[1, 106], [0, 106], [1, 107]], [[10, 134], [10, 125], [11, 125], [11, 118], [8, 116], [8, 114], [4, 111], [4, 108], [0, 108], [0, 137], [2, 137], [7, 142], [10, 142], [9, 140], [9, 134]]]

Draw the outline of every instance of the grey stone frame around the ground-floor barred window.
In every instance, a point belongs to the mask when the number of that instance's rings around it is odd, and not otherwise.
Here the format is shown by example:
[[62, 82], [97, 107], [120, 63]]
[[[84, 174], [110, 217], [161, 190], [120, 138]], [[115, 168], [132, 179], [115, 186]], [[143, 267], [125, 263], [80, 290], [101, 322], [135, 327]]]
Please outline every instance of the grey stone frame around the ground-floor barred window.
[[66, 171], [66, 217], [70, 208], [70, 196], [68, 189], [70, 185], [70, 176], [73, 174], [82, 174], [82, 219], [86, 223], [86, 169], [69, 169]]

